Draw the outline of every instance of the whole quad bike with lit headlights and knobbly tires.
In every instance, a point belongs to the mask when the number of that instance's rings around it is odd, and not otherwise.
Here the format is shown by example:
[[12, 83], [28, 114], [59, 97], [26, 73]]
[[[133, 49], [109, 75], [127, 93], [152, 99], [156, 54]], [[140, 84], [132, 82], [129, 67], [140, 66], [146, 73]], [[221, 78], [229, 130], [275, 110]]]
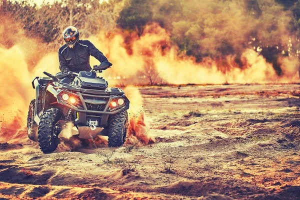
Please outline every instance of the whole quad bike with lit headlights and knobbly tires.
[[[129, 100], [120, 88], [110, 87], [96, 72], [110, 67], [110, 62], [95, 65], [90, 71], [57, 73], [55, 76], [35, 77], [32, 87], [36, 98], [29, 104], [27, 133], [39, 142], [42, 152], [50, 153], [59, 144], [59, 134], [68, 122], [74, 127], [71, 134], [79, 138], [108, 136], [108, 146], [124, 143], [127, 130]], [[73, 78], [64, 83], [63, 78]]]

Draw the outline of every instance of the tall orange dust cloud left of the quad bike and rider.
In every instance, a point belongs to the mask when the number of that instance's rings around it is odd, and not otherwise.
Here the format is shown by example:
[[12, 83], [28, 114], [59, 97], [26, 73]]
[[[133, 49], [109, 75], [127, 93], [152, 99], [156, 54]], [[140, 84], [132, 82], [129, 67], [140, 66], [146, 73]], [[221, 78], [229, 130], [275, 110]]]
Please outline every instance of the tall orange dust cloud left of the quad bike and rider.
[[0, 38], [0, 142], [20, 142], [26, 140], [28, 105], [35, 97], [31, 82], [43, 71], [57, 71], [58, 60], [56, 53], [41, 52], [46, 45], [28, 38], [12, 20], [3, 18]]

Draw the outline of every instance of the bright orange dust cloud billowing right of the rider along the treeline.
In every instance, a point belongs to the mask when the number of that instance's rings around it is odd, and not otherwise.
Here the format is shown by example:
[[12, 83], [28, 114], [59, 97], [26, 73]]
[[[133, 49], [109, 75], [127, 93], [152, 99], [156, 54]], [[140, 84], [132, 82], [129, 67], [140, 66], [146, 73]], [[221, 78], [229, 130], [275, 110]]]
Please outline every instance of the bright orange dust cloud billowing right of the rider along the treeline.
[[130, 53], [126, 51], [121, 33], [105, 39], [102, 32], [89, 39], [103, 49], [113, 63], [111, 69], [104, 72], [104, 77], [118, 77], [113, 83], [148, 84], [151, 76], [157, 76], [156, 83], [169, 84], [280, 83], [294, 82], [298, 78], [297, 57], [280, 57], [283, 75], [278, 76], [272, 63], [253, 48], [242, 49], [239, 56], [242, 67], [237, 66], [236, 56], [232, 54], [222, 58], [204, 57], [201, 62], [192, 56], [178, 56], [178, 47], [169, 45], [168, 33], [158, 24], [148, 25], [140, 37], [132, 38]]

